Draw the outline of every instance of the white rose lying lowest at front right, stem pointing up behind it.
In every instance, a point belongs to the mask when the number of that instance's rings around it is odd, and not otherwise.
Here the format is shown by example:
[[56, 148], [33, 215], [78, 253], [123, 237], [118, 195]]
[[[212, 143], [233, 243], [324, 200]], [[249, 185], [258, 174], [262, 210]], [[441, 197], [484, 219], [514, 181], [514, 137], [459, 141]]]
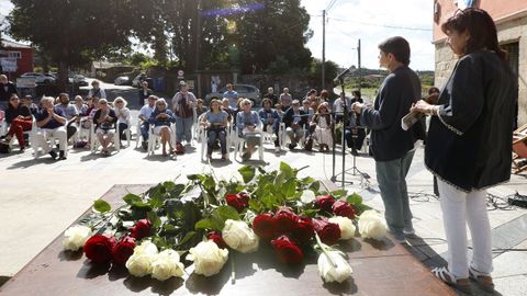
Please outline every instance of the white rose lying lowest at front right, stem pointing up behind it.
[[335, 265], [332, 264], [325, 253], [321, 253], [321, 255], [318, 255], [318, 274], [322, 276], [324, 282], [343, 283], [349, 276], [351, 276], [354, 271], [348, 264], [348, 261], [346, 261], [339, 251], [327, 251], [327, 254]]

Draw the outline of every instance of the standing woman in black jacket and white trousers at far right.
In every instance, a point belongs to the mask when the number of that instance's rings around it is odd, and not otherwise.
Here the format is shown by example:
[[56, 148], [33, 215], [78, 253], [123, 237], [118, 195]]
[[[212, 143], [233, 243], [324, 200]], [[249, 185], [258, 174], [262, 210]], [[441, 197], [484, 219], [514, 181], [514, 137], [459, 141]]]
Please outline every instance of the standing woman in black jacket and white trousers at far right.
[[[486, 189], [511, 178], [517, 79], [485, 11], [460, 11], [441, 30], [459, 60], [437, 105], [418, 101], [412, 109], [433, 115], [425, 162], [438, 179], [449, 252], [448, 267], [433, 272], [463, 292], [470, 293], [469, 276], [493, 291]], [[470, 263], [467, 224], [473, 248]]]

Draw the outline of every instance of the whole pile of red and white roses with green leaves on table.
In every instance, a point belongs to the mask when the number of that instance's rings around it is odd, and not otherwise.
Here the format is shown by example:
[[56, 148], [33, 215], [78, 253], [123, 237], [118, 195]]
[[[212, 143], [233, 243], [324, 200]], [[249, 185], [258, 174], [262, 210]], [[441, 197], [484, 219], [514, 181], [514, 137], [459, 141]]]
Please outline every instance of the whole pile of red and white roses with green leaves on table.
[[190, 264], [197, 274], [217, 274], [229, 252], [256, 252], [260, 243], [271, 246], [284, 264], [298, 264], [315, 250], [322, 278], [340, 283], [351, 266], [337, 242], [357, 230], [372, 239], [385, 235], [383, 219], [359, 195], [328, 193], [284, 162], [276, 171], [243, 167], [238, 172], [242, 180], [216, 180], [211, 173], [188, 175], [187, 184], [164, 182], [125, 195], [113, 210], [98, 200], [94, 213], [81, 220], [88, 226], [68, 229], [64, 246], [83, 248], [94, 263], [124, 264], [134, 276], [159, 281], [182, 277]]

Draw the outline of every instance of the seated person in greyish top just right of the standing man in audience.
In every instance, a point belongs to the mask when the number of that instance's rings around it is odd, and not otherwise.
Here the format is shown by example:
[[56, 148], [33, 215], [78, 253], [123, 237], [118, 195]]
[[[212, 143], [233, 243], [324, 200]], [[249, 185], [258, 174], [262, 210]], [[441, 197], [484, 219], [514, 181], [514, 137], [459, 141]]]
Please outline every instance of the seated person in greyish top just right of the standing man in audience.
[[[228, 103], [228, 100], [227, 100]], [[220, 146], [222, 147], [222, 160], [227, 159], [227, 132], [226, 126], [228, 124], [228, 114], [220, 106], [220, 101], [216, 99], [211, 100], [210, 110], [203, 116], [202, 124], [206, 128], [208, 136], [208, 150], [206, 157], [212, 159], [212, 150], [216, 140], [220, 139]]]

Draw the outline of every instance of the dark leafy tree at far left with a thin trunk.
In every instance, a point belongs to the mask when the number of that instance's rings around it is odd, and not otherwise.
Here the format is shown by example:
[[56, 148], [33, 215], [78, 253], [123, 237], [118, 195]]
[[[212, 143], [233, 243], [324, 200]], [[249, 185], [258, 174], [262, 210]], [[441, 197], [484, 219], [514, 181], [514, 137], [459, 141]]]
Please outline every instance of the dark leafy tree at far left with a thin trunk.
[[130, 46], [131, 0], [12, 0], [9, 33], [31, 42], [59, 66], [64, 89], [68, 68], [87, 65]]

